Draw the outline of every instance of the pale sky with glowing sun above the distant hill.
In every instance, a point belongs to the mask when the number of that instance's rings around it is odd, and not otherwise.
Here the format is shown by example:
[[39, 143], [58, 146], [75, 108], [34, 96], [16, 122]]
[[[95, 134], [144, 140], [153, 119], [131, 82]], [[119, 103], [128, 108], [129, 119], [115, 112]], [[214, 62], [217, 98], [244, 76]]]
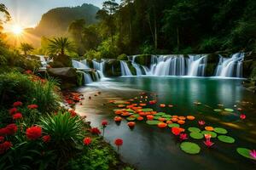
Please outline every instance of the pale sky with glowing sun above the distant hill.
[[[6, 30], [11, 29], [14, 24], [24, 28], [37, 26], [42, 14], [51, 8], [73, 7], [83, 3], [102, 8], [103, 2], [104, 0], [0, 0], [12, 16], [12, 22], [4, 26]], [[116, 2], [119, 3], [119, 0]]]

